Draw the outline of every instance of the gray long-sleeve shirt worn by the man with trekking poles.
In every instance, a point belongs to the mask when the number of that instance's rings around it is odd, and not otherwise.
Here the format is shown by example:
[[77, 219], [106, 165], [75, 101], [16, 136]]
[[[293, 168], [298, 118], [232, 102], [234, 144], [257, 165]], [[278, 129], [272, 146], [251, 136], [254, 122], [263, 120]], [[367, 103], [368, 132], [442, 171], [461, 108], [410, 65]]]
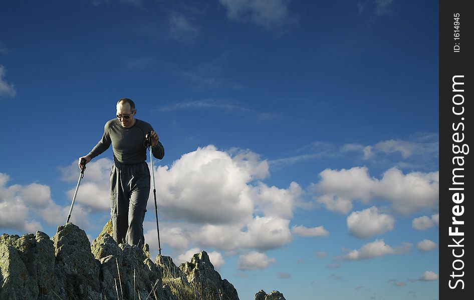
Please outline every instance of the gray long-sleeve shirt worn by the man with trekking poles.
[[[89, 152], [91, 158], [96, 157], [112, 144], [114, 159], [120, 163], [131, 164], [146, 160], [147, 148], [143, 145], [145, 134], [153, 130], [153, 127], [142, 120], [135, 119], [135, 124], [125, 128], [120, 124], [118, 118], [111, 119], [104, 126], [104, 135], [97, 145]], [[153, 156], [158, 159], [164, 156], [164, 147], [160, 141], [156, 147], [152, 147]]]

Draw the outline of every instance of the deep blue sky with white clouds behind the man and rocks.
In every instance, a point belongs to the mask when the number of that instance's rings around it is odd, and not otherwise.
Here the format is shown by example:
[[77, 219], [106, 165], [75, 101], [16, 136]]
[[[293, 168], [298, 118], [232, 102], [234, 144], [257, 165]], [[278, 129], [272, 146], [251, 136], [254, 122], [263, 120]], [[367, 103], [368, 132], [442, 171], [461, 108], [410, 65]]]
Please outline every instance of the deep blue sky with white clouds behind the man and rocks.
[[[436, 1], [2, 1], [0, 229], [55, 234], [129, 97], [175, 262], [206, 250], [241, 299], [437, 299], [437, 79]], [[91, 239], [111, 159], [71, 217]]]

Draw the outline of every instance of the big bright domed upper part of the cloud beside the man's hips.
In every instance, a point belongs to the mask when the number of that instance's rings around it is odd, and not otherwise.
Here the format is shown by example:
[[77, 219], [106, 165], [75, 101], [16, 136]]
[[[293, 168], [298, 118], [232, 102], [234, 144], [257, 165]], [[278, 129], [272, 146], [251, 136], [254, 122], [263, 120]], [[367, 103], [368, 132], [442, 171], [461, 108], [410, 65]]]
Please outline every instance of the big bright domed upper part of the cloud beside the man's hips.
[[163, 214], [195, 223], [235, 223], [251, 215], [254, 203], [247, 184], [253, 176], [213, 145], [186, 153], [171, 168], [158, 167], [155, 172]]

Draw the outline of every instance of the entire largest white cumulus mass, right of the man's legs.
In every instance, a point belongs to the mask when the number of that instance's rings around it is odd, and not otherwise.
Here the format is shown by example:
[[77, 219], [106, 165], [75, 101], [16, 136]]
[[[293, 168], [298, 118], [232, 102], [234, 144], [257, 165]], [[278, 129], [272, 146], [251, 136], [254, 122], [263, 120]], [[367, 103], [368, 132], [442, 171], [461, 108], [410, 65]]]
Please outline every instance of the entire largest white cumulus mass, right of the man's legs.
[[[268, 175], [260, 155], [213, 145], [182, 155], [170, 167], [155, 167], [163, 241], [176, 251], [189, 246], [264, 251], [288, 244], [290, 219], [303, 190], [296, 182], [268, 186], [260, 181]], [[154, 210], [153, 201], [148, 205]], [[146, 240], [157, 243], [156, 225], [144, 228]]]

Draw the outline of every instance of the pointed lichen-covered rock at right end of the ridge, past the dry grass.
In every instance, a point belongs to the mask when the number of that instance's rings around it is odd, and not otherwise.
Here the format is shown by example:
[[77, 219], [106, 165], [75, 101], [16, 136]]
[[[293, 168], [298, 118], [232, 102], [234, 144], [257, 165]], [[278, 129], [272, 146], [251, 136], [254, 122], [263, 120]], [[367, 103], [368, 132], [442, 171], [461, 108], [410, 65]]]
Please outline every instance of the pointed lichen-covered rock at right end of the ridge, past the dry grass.
[[239, 300], [237, 291], [226, 279], [214, 270], [206, 251], [194, 254], [190, 262], [182, 263], [179, 268], [189, 283], [203, 298], [219, 300]]

